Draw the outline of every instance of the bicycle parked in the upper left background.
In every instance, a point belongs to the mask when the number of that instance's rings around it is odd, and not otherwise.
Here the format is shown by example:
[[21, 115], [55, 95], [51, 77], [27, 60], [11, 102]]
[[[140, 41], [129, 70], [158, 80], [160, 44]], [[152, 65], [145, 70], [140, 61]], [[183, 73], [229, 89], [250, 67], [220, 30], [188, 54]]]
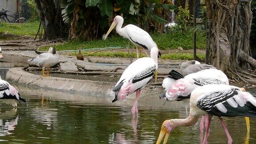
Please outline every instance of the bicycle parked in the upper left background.
[[[18, 17], [17, 13], [14, 16], [11, 16], [11, 15], [8, 15], [7, 12], [10, 12], [10, 11], [4, 10], [4, 8], [2, 8], [2, 11], [0, 11], [0, 22], [19, 23], [20, 21], [20, 23], [24, 23], [27, 21], [27, 19], [25, 19], [24, 17], [20, 17], [16, 19], [16, 17]], [[8, 16], [12, 17], [13, 20], [9, 20]]]

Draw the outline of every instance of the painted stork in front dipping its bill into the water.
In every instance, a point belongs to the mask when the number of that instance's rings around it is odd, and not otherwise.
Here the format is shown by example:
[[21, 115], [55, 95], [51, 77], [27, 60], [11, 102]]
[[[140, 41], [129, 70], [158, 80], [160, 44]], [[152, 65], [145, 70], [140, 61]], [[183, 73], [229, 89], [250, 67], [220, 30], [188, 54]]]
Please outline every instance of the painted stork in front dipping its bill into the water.
[[228, 138], [228, 144], [232, 144], [232, 138], [228, 133], [222, 116], [256, 117], [256, 98], [249, 92], [244, 92], [244, 88], [225, 84], [208, 84], [196, 88], [190, 96], [190, 112], [188, 118], [165, 120], [161, 126], [160, 135], [156, 144], [160, 144], [164, 135], [164, 144], [166, 144], [168, 136], [174, 128], [178, 126], [192, 126], [196, 124], [200, 116], [207, 116], [203, 144], [207, 143], [212, 116], [219, 117]]

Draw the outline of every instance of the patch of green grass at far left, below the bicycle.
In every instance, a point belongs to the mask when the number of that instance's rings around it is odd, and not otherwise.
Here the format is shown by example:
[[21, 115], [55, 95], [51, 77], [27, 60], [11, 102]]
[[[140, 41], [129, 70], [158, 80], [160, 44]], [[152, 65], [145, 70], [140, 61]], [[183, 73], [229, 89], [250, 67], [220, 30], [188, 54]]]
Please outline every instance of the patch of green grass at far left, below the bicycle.
[[39, 27], [38, 21], [27, 22], [24, 24], [0, 23], [0, 33], [8, 32], [8, 34], [13, 34], [17, 36], [27, 35], [27, 36], [34, 37], [36, 36], [38, 27]]

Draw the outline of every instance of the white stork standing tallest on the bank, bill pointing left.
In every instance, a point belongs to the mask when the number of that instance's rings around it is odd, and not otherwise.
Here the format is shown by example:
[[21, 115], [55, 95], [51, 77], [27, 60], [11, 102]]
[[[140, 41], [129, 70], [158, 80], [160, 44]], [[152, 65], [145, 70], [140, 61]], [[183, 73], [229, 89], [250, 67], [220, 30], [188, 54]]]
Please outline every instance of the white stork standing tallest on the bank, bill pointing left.
[[[116, 32], [120, 36], [127, 38], [132, 42], [132, 44], [136, 46], [137, 58], [139, 58], [138, 47], [144, 48], [144, 50], [148, 50], [148, 52], [151, 52], [151, 48], [153, 47], [157, 48], [156, 43], [152, 40], [151, 36], [149, 36], [148, 32], [144, 31], [143, 29], [133, 24], [128, 24], [124, 28], [122, 28], [123, 23], [124, 23], [123, 17], [116, 16], [110, 28], [108, 29], [107, 34], [104, 36], [104, 40], [106, 40], [106, 38], [108, 37], [108, 34], [112, 31], [112, 29], [116, 27]], [[148, 56], [148, 53], [146, 51], [145, 53]], [[161, 53], [158, 51], [158, 57], [159, 56], [161, 56]], [[155, 82], [156, 82], [156, 77], [157, 77], [157, 72], [155, 73]]]

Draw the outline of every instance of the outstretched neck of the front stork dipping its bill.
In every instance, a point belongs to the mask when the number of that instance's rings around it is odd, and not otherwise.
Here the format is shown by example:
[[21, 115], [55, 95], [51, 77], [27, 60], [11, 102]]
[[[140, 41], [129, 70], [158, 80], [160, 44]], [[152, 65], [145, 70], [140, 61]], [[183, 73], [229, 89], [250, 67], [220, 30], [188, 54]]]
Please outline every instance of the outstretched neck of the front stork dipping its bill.
[[192, 126], [195, 125], [199, 116], [189, 115], [186, 119], [173, 119], [171, 120], [175, 127], [178, 126]]

